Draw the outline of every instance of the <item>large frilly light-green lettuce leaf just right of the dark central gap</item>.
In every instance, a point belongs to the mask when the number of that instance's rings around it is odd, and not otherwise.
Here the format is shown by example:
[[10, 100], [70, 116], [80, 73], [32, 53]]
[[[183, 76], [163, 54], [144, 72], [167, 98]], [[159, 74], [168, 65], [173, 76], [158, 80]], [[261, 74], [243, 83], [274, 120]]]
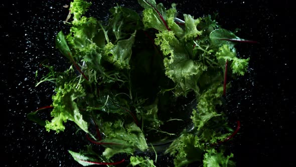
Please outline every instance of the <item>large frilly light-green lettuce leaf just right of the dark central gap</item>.
[[164, 58], [165, 73], [180, 89], [179, 93], [184, 95], [194, 90], [197, 94], [199, 88], [197, 81], [207, 67], [202, 63], [189, 58], [181, 42], [175, 37], [173, 31], [163, 31], [157, 34], [156, 45], [160, 45]]

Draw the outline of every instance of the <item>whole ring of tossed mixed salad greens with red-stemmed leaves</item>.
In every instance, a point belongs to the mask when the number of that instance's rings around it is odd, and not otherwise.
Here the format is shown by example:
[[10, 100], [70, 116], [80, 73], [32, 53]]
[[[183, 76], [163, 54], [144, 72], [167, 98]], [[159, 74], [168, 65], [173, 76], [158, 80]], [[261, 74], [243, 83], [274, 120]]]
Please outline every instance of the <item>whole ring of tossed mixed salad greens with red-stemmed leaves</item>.
[[[70, 33], [56, 36], [69, 59], [62, 72], [49, 73], [36, 86], [55, 84], [51, 120], [37, 110], [29, 119], [57, 133], [72, 121], [90, 144], [69, 153], [80, 164], [155, 166], [139, 152], [169, 154], [175, 166], [234, 166], [232, 153], [219, 145], [233, 130], [219, 108], [228, 78], [244, 75], [249, 59], [237, 57], [238, 38], [211, 16], [180, 15], [155, 0], [138, 0], [137, 13], [116, 6], [107, 22], [86, 17], [91, 3], [70, 4]], [[37, 74], [37, 72], [36, 72]], [[44, 109], [44, 108], [41, 108]], [[93, 147], [99, 144], [101, 153]], [[119, 159], [120, 155], [130, 157]], [[119, 156], [115, 156], [119, 155]], [[122, 156], [121, 156], [122, 157]]]

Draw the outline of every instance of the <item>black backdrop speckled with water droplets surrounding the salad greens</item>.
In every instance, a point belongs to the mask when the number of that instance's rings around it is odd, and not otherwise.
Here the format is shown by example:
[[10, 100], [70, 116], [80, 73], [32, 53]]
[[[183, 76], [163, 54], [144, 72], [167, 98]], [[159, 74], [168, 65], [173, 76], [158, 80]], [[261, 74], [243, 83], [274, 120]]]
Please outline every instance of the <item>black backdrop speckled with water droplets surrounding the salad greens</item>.
[[[170, 7], [169, 1], [157, 1]], [[240, 133], [228, 143], [237, 166], [294, 166], [293, 138], [295, 10], [288, 1], [172, 1], [180, 14], [201, 17], [219, 13], [218, 23], [239, 28], [241, 38], [260, 44], [239, 44], [241, 57], [250, 57], [248, 73], [232, 81], [227, 92], [229, 121], [241, 121]], [[106, 19], [116, 3], [140, 11], [136, 1], [93, 1], [90, 14]], [[67, 150], [88, 144], [67, 123], [64, 133], [46, 132], [26, 114], [51, 104], [53, 85], [35, 88], [35, 71], [48, 59], [57, 70], [68, 67], [55, 49], [54, 37], [68, 30], [63, 24], [69, 1], [11, 1], [1, 4], [2, 161], [4, 166], [80, 166]], [[45, 112], [46, 113], [46, 112]], [[47, 115], [45, 114], [44, 117]], [[172, 164], [162, 157], [159, 166]], [[166, 162], [168, 161], [168, 162]], [[126, 164], [126, 163], [124, 163]]]

